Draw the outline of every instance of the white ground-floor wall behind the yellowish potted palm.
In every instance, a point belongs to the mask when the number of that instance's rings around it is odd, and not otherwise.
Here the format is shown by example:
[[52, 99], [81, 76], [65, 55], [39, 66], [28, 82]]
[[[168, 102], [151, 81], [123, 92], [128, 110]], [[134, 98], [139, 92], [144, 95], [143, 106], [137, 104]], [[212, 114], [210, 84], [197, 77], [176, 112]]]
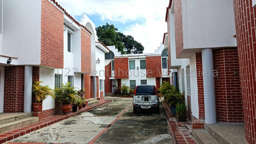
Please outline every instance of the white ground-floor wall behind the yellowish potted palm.
[[[52, 89], [54, 89], [54, 71], [53, 68], [40, 67], [39, 80], [42, 81], [40, 83], [42, 86], [48, 85]], [[45, 101], [42, 102], [42, 110], [48, 110], [54, 108], [54, 99], [48, 97]]]

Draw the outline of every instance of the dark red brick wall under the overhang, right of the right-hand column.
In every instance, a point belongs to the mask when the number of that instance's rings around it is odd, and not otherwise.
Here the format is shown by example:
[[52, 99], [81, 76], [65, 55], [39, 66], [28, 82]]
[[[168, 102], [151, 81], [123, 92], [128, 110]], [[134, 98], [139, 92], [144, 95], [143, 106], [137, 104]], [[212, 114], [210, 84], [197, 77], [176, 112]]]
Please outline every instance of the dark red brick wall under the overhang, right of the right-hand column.
[[243, 106], [237, 48], [214, 50], [215, 96], [217, 121], [243, 123]]

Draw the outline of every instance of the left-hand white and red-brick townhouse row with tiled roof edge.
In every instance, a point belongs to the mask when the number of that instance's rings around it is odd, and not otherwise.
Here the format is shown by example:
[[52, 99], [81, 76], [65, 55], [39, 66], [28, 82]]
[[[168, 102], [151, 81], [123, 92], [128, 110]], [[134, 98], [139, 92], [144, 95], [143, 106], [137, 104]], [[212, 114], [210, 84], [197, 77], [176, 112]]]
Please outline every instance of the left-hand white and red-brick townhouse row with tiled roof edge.
[[[97, 42], [95, 25], [86, 15], [78, 22], [54, 0], [0, 4], [0, 112], [31, 112], [34, 81], [51, 88], [69, 82], [84, 87], [86, 99], [103, 98], [104, 77], [92, 71], [104, 69], [109, 51]], [[34, 115], [61, 112], [60, 104], [47, 98], [42, 112]]]

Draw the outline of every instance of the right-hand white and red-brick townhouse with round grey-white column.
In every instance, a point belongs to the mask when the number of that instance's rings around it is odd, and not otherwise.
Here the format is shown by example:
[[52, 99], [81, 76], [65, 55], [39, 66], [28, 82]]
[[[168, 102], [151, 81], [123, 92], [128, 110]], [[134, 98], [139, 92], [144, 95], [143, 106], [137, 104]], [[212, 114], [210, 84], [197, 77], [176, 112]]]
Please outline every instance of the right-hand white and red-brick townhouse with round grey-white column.
[[190, 121], [244, 123], [249, 143], [256, 136], [255, 4], [170, 0], [165, 19], [168, 68], [176, 70], [173, 84], [185, 93]]

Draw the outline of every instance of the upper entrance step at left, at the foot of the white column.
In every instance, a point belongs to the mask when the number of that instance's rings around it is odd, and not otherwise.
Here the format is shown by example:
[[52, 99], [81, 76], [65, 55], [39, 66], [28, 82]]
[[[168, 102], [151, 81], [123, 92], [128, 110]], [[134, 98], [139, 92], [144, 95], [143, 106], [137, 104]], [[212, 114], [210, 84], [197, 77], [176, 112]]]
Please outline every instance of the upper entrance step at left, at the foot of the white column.
[[32, 113], [1, 113], [0, 125], [19, 121], [20, 119], [32, 117]]

